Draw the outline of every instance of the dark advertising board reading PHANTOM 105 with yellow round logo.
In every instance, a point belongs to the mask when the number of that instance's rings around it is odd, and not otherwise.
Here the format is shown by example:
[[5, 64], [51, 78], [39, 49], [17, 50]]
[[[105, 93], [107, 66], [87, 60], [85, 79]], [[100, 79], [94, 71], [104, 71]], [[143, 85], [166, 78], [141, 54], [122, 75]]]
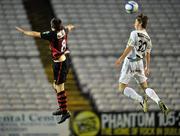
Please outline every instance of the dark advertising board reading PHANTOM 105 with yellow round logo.
[[108, 135], [180, 135], [180, 112], [167, 117], [162, 112], [98, 113], [80, 111], [71, 118], [72, 134], [77, 136]]

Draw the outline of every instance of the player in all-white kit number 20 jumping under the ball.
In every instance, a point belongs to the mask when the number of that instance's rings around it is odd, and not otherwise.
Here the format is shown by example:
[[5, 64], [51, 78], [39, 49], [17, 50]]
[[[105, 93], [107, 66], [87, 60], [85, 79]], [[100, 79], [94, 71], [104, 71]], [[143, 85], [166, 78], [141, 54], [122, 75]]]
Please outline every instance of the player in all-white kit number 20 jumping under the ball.
[[[131, 32], [127, 47], [122, 55], [116, 60], [115, 65], [123, 63], [119, 78], [119, 90], [127, 97], [137, 100], [143, 107], [143, 111], [148, 111], [147, 96], [154, 100], [167, 115], [168, 107], [160, 100], [158, 95], [152, 88], [148, 87], [147, 77], [150, 73], [150, 54], [151, 54], [151, 39], [146, 32], [148, 17], [140, 14], [136, 17], [134, 27]], [[143, 65], [143, 56], [145, 56], [145, 67]], [[133, 88], [128, 87], [130, 79], [134, 77], [144, 90], [144, 96], [139, 95]]]

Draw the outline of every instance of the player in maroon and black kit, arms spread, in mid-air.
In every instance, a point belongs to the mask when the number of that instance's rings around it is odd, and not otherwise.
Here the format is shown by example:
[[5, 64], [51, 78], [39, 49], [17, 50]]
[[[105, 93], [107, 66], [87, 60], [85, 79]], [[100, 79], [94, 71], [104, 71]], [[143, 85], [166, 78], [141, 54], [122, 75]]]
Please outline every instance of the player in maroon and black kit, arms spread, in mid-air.
[[53, 112], [53, 115], [62, 115], [61, 120], [58, 122], [62, 123], [70, 117], [70, 113], [67, 111], [67, 97], [64, 90], [64, 83], [70, 67], [70, 51], [67, 46], [68, 33], [75, 27], [71, 24], [63, 26], [62, 21], [58, 18], [53, 18], [50, 24], [51, 31], [46, 32], [26, 31], [20, 27], [16, 27], [16, 29], [24, 35], [42, 38], [50, 42], [54, 72], [53, 88], [57, 93], [59, 104], [59, 108]]

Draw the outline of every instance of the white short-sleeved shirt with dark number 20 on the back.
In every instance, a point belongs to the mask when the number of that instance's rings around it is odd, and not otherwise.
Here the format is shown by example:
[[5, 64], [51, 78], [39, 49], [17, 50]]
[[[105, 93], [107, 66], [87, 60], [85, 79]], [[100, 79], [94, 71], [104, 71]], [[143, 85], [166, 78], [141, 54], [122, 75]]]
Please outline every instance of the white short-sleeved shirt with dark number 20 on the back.
[[145, 52], [150, 52], [152, 48], [151, 39], [146, 30], [134, 30], [131, 32], [127, 47], [132, 46], [132, 51], [127, 55], [128, 58], [143, 58]]

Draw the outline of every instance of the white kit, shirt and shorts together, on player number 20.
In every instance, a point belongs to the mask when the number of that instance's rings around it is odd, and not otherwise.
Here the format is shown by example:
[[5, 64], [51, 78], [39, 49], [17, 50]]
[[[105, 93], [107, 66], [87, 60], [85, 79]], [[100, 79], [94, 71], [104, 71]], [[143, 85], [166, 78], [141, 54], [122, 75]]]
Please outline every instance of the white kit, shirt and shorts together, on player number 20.
[[143, 83], [147, 80], [144, 73], [143, 55], [151, 51], [151, 39], [145, 30], [135, 30], [129, 37], [127, 47], [129, 46], [133, 49], [124, 60], [119, 82], [128, 84], [134, 77], [139, 83]]

